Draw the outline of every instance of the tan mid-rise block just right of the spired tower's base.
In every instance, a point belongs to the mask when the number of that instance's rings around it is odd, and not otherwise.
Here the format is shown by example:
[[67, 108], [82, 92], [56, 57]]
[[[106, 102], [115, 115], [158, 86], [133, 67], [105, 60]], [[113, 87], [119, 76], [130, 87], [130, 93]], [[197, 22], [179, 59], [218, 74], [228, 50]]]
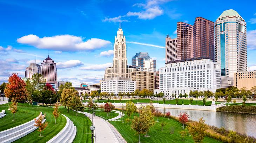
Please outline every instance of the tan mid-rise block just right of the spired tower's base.
[[136, 82], [136, 88], [140, 91], [147, 89], [153, 91], [155, 88], [154, 73], [148, 71], [135, 71], [131, 73], [132, 81]]

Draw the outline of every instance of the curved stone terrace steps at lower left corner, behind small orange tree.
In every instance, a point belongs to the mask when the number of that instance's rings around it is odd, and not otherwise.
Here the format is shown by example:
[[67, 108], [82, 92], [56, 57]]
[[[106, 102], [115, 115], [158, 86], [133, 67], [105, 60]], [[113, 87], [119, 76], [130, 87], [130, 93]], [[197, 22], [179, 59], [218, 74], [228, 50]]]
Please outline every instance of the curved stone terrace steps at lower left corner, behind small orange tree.
[[[40, 112], [42, 115], [42, 112]], [[38, 119], [36, 117], [36, 119]], [[43, 119], [42, 122], [45, 122], [46, 119]], [[23, 123], [22, 125], [13, 127], [11, 129], [7, 129], [0, 132], [0, 143], [11, 143], [19, 138], [26, 136], [32, 131], [36, 130], [38, 127], [34, 126], [35, 120], [31, 120], [29, 122]]]

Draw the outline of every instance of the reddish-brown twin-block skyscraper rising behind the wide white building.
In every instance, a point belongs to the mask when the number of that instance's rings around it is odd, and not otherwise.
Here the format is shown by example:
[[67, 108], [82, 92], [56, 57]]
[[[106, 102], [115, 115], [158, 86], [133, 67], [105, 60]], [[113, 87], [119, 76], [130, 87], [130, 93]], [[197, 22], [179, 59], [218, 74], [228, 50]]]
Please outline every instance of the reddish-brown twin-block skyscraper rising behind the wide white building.
[[214, 22], [196, 17], [194, 24], [177, 23], [177, 60], [208, 57], [214, 61]]

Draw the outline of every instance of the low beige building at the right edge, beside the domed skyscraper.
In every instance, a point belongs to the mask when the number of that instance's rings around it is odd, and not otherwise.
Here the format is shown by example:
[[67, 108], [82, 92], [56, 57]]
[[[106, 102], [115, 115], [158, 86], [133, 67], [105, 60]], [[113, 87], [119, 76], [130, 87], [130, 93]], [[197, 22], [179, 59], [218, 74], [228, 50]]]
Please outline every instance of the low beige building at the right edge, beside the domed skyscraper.
[[234, 86], [239, 90], [243, 87], [250, 90], [256, 86], [256, 70], [234, 73]]

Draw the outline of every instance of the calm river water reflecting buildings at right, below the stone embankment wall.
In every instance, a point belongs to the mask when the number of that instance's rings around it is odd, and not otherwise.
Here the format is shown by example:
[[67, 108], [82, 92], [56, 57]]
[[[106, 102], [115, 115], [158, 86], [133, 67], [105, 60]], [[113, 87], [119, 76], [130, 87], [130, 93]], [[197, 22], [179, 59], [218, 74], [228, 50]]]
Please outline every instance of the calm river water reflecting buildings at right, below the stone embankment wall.
[[[161, 108], [159, 108], [162, 110]], [[218, 128], [224, 127], [227, 130], [234, 130], [241, 134], [256, 137], [256, 115], [228, 112], [213, 112], [200, 110], [182, 110], [182, 109], [167, 109], [171, 115], [178, 116], [180, 112], [187, 112], [190, 120], [198, 121], [199, 118], [205, 120], [205, 123]]]

